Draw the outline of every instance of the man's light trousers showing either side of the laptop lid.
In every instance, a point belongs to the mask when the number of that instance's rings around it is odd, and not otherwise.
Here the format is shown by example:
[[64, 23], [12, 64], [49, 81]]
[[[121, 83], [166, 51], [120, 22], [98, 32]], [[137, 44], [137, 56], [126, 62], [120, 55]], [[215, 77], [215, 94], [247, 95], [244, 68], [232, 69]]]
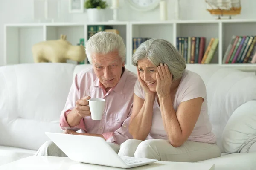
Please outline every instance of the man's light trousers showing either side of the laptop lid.
[[[108, 142], [109, 146], [118, 153], [120, 146], [118, 144]], [[71, 144], [70, 144], [71, 145]], [[67, 155], [52, 141], [46, 141], [35, 154], [36, 156], [59, 156], [67, 157]]]

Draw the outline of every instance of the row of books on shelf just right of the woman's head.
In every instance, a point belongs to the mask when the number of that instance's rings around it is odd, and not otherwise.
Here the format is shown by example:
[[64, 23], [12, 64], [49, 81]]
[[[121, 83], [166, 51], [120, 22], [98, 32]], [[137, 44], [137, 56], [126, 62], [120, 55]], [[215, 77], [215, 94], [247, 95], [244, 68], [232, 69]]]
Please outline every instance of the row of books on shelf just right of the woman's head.
[[218, 38], [211, 38], [205, 50], [205, 37], [177, 37], [176, 48], [186, 63], [210, 63], [218, 47]]

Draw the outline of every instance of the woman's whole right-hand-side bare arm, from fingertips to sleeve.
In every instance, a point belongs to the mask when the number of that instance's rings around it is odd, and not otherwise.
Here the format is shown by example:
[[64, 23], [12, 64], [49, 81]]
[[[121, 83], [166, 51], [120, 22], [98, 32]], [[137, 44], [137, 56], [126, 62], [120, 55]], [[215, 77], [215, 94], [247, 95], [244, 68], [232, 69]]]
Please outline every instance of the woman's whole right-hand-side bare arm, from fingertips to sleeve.
[[[202, 97], [183, 101], [175, 112], [171, 99], [172, 74], [166, 64], [157, 67], [157, 95], [163, 119], [163, 125], [170, 144], [180, 147], [191, 135], [201, 112], [204, 99]], [[200, 81], [196, 81], [200, 85]], [[201, 86], [196, 88], [201, 88]], [[193, 87], [194, 87], [193, 86]], [[203, 88], [203, 87], [202, 87]], [[194, 91], [194, 89], [190, 89]], [[200, 89], [203, 90], [203, 89]], [[187, 89], [187, 91], [189, 91]]]

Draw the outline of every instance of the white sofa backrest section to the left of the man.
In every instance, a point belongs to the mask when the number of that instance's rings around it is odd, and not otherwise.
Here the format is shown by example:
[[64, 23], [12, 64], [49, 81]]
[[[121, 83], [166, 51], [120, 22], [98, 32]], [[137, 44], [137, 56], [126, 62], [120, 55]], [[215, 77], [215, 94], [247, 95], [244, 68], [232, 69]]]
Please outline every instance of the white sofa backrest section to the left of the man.
[[75, 65], [32, 63], [0, 67], [0, 145], [31, 150], [62, 132], [59, 118]]

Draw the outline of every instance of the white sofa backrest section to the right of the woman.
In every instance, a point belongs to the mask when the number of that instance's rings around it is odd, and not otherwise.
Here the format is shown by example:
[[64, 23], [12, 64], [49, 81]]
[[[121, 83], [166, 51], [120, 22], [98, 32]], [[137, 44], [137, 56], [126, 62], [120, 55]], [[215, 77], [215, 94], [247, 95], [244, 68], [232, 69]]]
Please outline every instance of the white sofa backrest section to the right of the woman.
[[237, 69], [209, 64], [190, 64], [187, 69], [198, 73], [206, 84], [212, 131], [217, 137], [221, 151], [225, 152], [221, 139], [224, 127], [239, 106], [256, 100], [256, 76]]

